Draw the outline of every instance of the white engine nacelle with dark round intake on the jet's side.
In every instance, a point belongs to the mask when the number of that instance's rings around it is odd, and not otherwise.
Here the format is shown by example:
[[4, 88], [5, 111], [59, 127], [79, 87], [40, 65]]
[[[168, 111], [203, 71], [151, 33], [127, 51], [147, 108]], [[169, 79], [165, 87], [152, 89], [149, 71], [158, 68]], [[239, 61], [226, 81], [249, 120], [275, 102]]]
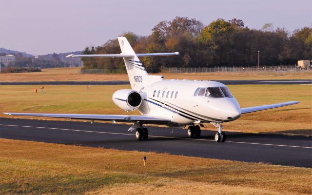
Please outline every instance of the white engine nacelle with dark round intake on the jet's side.
[[134, 111], [142, 103], [141, 95], [131, 89], [120, 89], [113, 94], [114, 103], [125, 111]]

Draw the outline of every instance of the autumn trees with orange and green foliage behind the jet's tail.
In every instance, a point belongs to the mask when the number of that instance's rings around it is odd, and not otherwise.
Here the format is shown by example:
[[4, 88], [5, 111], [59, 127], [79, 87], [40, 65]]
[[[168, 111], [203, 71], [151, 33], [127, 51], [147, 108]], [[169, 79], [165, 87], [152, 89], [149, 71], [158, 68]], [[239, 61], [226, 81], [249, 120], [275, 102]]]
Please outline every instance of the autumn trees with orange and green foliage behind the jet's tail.
[[[250, 29], [240, 19], [217, 19], [205, 26], [201, 21], [176, 17], [160, 21], [149, 36], [123, 33], [136, 53], [179, 52], [175, 57], [140, 58], [151, 73], [160, 67], [256, 66], [258, 51], [261, 66], [294, 65], [312, 59], [312, 28], [290, 33], [285, 28]], [[102, 46], [86, 47], [83, 54], [118, 54], [117, 39]], [[125, 70], [122, 59], [82, 58], [84, 69]]]

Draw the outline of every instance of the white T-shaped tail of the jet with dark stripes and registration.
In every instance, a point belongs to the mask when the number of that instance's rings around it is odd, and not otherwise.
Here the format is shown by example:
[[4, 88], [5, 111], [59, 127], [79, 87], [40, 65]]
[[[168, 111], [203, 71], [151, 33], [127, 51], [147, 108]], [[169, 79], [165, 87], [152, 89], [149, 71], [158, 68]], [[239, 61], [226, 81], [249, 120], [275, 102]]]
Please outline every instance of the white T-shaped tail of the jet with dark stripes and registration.
[[174, 53], [151, 53], [151, 54], [136, 54], [127, 38], [118, 37], [119, 46], [121, 49], [120, 54], [93, 54], [93, 55], [68, 55], [69, 57], [81, 57], [81, 58], [123, 58], [127, 74], [129, 77], [129, 81], [131, 84], [131, 88], [133, 90], [139, 91], [142, 87], [162, 80], [163, 76], [153, 76], [149, 75], [142, 62], [138, 59], [138, 57], [153, 57], [153, 56], [175, 56], [179, 55], [178, 52]]

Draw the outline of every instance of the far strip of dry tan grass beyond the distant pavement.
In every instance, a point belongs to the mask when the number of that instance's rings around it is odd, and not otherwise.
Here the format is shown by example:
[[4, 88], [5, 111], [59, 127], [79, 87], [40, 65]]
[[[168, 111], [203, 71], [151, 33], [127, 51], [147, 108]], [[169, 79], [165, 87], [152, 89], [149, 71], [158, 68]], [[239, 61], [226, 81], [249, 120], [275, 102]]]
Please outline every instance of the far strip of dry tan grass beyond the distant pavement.
[[[0, 81], [107, 81], [128, 80], [126, 74], [97, 75], [80, 74], [79, 67], [42, 69], [35, 73], [10, 73], [1, 74]], [[152, 74], [153, 75], [153, 74]], [[276, 72], [276, 73], [197, 73], [197, 74], [167, 74], [159, 73], [166, 79], [197, 79], [197, 80], [248, 80], [248, 79], [312, 79], [309, 72]]]

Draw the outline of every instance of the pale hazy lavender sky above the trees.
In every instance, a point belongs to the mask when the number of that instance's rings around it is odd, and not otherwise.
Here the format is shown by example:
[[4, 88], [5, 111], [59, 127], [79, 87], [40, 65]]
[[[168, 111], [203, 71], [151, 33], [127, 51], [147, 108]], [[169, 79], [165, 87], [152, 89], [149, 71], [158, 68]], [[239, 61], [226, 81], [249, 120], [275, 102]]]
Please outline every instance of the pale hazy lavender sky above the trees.
[[33, 55], [81, 51], [122, 32], [150, 35], [176, 16], [264, 23], [290, 32], [312, 26], [312, 0], [0, 0], [0, 47]]

